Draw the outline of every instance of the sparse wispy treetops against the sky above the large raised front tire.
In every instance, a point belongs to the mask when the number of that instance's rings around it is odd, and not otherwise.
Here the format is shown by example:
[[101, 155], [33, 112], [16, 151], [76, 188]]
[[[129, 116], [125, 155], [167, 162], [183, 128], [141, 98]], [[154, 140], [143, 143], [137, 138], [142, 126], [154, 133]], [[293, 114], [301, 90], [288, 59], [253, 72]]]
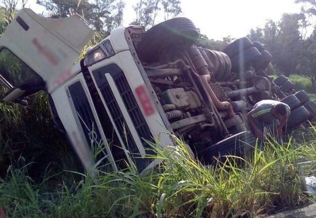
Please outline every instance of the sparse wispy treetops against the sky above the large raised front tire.
[[161, 17], [159, 12], [163, 9], [164, 19], [170, 19], [182, 13], [180, 0], [139, 0], [133, 6], [136, 17], [131, 25], [150, 28], [155, 25], [156, 18]]

